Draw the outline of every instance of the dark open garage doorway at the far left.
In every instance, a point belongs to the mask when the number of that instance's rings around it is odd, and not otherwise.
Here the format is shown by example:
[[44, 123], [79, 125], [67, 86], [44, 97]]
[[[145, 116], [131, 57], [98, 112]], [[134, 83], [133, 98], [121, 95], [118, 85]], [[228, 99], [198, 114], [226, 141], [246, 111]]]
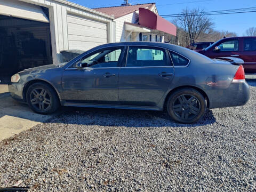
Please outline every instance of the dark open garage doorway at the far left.
[[50, 24], [0, 15], [0, 80], [52, 63]]

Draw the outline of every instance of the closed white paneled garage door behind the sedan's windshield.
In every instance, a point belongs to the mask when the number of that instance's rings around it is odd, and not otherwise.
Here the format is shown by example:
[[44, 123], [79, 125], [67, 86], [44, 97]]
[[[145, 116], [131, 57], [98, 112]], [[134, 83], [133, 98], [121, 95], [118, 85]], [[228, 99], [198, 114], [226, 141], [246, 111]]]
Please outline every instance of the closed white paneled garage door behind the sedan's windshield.
[[107, 24], [74, 14], [68, 14], [69, 50], [87, 51], [107, 43]]

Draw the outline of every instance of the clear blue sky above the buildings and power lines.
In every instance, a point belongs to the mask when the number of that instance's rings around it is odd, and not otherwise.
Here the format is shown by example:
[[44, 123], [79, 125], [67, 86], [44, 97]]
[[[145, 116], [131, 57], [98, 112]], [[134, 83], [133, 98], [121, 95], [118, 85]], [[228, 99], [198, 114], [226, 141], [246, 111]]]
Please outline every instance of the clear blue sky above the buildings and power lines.
[[[80, 4], [89, 8], [118, 6], [123, 3], [123, 0], [70, 0], [76, 4]], [[130, 0], [131, 4], [156, 3], [159, 15], [180, 13], [182, 9], [201, 8], [205, 11], [218, 11], [227, 9], [240, 9], [246, 7], [256, 7], [255, 0]], [[189, 3], [193, 2], [193, 3]], [[182, 4], [178, 4], [182, 3]], [[166, 5], [172, 4], [172, 5]], [[256, 12], [226, 14], [226, 15], [211, 15], [212, 21], [215, 23], [214, 28], [217, 30], [228, 30], [237, 33], [238, 36], [245, 34], [245, 30], [250, 27], [256, 27]], [[171, 20], [166, 18], [167, 20]]]

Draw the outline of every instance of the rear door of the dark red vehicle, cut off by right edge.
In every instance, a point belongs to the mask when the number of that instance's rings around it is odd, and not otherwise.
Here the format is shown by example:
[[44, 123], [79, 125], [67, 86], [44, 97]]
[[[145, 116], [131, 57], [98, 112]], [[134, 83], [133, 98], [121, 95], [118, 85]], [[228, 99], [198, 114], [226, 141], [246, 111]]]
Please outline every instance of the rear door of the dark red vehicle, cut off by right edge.
[[242, 45], [243, 52], [240, 54], [240, 58], [244, 60], [244, 71], [256, 74], [256, 38], [243, 38]]

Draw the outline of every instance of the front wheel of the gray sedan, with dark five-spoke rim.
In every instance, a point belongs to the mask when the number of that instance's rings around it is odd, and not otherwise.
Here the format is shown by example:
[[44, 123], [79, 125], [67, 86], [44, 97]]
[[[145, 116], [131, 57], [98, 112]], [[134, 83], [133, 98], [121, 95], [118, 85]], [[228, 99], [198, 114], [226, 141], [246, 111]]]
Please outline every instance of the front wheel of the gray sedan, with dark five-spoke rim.
[[38, 114], [51, 114], [60, 107], [55, 90], [46, 83], [34, 83], [26, 93], [28, 106]]

